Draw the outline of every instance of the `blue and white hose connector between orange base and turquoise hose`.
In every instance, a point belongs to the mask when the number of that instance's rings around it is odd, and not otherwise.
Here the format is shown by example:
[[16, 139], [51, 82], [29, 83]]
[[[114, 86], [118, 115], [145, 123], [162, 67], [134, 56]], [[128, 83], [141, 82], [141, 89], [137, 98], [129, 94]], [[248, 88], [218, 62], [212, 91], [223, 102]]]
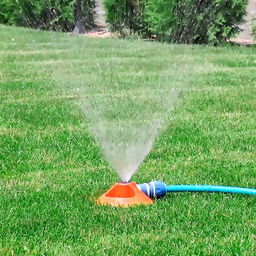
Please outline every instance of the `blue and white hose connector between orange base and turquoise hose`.
[[159, 199], [166, 196], [167, 190], [164, 182], [151, 181], [149, 183], [137, 184], [137, 187], [151, 199]]

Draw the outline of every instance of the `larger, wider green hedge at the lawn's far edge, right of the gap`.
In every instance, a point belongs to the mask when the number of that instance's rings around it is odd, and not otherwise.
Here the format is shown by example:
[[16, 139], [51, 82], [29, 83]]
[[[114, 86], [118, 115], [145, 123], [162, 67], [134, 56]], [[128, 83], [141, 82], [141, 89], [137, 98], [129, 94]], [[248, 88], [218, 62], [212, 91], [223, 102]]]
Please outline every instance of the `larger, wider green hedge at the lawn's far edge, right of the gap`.
[[114, 30], [167, 42], [218, 44], [240, 32], [248, 0], [105, 0]]

